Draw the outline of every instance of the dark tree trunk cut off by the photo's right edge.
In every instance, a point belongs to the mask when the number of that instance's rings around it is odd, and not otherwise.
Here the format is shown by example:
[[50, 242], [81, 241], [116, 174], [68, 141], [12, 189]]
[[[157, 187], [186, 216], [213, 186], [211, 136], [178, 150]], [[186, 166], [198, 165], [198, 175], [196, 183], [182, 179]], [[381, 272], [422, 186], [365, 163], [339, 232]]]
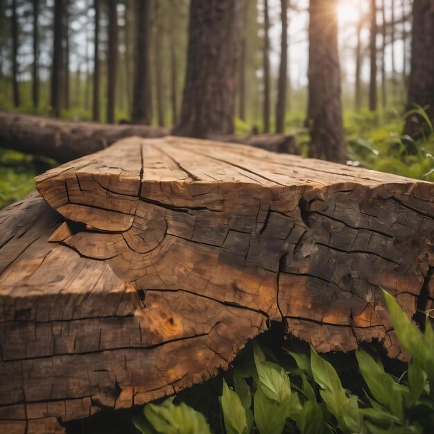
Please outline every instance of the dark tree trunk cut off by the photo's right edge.
[[[422, 107], [434, 125], [434, 5], [432, 1], [413, 3], [413, 34], [411, 70], [408, 83], [407, 108]], [[418, 137], [430, 128], [422, 116], [408, 116], [405, 133]]]

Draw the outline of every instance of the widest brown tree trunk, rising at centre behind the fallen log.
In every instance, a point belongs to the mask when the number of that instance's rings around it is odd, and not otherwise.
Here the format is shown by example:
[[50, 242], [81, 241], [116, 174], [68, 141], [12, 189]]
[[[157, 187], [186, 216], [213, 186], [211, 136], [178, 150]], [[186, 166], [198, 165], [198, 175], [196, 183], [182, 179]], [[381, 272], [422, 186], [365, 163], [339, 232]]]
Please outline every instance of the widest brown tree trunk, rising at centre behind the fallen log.
[[243, 3], [191, 0], [184, 97], [175, 134], [208, 137], [234, 132]]

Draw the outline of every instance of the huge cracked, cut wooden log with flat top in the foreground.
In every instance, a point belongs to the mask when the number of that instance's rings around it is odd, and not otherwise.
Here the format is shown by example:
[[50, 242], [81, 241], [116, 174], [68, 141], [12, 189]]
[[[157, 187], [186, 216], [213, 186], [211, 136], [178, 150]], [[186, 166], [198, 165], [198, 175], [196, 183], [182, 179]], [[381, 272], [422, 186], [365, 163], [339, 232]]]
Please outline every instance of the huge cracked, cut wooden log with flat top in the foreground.
[[380, 288], [434, 295], [434, 184], [248, 146], [124, 139], [0, 214], [0, 426], [46, 433], [173, 394], [270, 326], [379, 340]]

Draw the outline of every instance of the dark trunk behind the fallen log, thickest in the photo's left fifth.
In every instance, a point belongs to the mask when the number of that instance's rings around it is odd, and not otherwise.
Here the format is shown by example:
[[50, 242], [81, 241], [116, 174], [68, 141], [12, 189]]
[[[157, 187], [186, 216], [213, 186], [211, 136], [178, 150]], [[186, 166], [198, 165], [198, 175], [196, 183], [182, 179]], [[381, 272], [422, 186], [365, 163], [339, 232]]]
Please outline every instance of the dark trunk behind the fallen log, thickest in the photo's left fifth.
[[54, 38], [53, 38], [53, 67], [51, 70], [51, 112], [60, 117], [64, 108], [62, 87], [64, 85], [64, 1], [54, 2]]

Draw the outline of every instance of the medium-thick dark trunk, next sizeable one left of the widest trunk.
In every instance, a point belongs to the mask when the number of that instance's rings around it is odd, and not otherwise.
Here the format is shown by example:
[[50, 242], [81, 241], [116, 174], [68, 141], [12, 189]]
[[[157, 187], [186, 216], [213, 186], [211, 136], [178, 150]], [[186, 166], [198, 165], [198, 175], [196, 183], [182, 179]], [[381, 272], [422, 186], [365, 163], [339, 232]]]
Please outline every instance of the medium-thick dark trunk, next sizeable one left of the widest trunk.
[[150, 0], [136, 0], [134, 53], [134, 87], [132, 92], [132, 123], [152, 122], [150, 87]]

